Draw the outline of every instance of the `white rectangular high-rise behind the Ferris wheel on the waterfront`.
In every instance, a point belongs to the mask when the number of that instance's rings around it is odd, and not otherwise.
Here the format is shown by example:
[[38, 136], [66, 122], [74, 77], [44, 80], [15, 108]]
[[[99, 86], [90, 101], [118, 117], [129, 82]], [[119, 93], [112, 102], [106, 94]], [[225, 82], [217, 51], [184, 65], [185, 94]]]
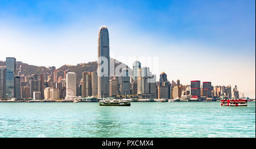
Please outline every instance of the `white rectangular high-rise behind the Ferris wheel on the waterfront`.
[[73, 99], [76, 96], [76, 73], [67, 73], [66, 99]]

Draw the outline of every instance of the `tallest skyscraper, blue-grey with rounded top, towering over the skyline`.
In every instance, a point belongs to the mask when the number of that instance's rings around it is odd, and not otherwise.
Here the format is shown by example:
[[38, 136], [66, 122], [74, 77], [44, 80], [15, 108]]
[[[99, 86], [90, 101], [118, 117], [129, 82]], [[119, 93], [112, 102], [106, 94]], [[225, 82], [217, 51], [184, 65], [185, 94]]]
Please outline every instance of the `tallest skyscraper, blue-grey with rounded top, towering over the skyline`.
[[109, 31], [101, 27], [98, 32], [98, 97], [109, 97]]

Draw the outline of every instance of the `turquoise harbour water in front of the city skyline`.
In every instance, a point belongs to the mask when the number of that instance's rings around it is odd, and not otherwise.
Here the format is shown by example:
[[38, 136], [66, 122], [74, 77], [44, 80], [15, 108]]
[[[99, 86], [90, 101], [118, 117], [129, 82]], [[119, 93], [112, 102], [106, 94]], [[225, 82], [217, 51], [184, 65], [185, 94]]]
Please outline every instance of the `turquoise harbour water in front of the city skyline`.
[[255, 137], [255, 102], [0, 103], [0, 137]]

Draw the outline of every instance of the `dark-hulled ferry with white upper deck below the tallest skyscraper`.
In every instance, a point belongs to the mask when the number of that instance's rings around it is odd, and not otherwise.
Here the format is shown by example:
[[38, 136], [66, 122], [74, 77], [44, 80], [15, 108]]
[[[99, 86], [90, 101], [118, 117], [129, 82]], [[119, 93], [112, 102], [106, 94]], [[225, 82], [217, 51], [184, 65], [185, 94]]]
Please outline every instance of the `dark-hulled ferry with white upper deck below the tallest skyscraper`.
[[130, 106], [130, 99], [103, 99], [100, 100], [101, 106]]

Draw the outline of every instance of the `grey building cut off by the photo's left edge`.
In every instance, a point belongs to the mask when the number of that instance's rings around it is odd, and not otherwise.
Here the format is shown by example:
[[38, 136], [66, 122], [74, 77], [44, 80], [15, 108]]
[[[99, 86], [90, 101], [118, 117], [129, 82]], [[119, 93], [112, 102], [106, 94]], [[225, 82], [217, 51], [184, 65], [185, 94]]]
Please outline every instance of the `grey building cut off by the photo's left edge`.
[[0, 100], [6, 99], [6, 67], [0, 66]]

